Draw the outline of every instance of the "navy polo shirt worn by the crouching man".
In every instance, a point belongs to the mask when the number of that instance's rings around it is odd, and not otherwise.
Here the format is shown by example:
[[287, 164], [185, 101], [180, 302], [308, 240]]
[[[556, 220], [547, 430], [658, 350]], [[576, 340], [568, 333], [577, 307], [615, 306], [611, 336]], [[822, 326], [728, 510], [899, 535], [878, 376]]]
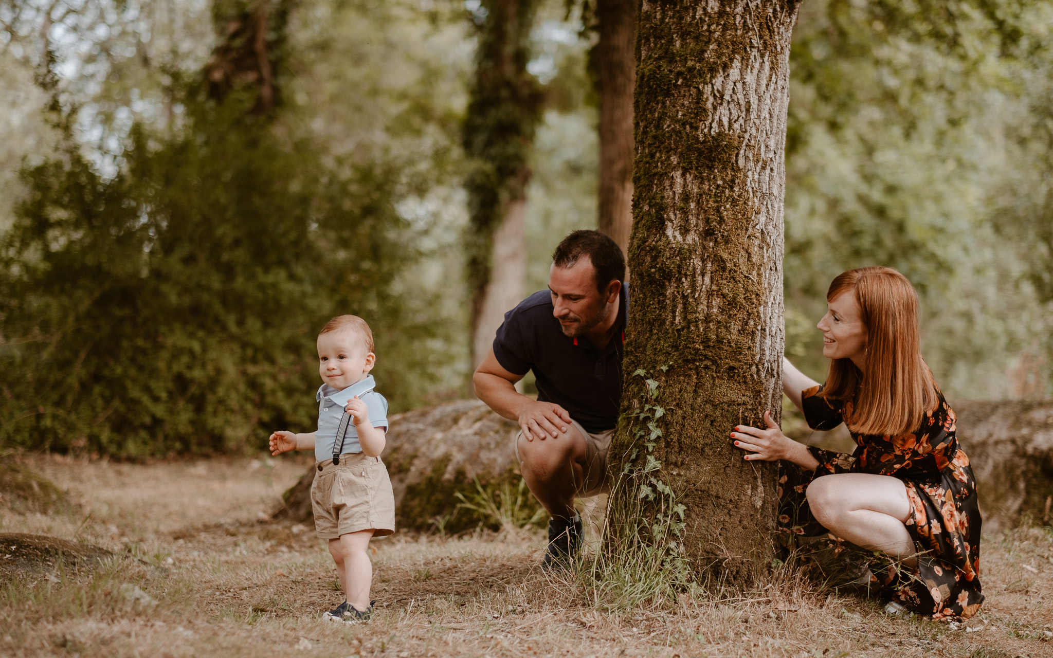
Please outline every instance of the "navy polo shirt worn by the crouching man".
[[613, 430], [620, 411], [629, 284], [621, 285], [615, 335], [602, 352], [584, 336], [563, 336], [553, 310], [552, 293], [540, 291], [505, 313], [494, 356], [515, 375], [534, 371], [537, 399], [562, 406], [587, 432]]

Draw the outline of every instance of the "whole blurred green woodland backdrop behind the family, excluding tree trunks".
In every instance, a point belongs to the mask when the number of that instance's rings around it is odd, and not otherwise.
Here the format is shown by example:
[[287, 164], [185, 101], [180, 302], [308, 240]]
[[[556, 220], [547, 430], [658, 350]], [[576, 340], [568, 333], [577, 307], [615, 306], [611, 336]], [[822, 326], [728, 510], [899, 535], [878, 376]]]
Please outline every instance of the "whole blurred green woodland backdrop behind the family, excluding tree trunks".
[[[485, 3], [263, 5], [250, 94], [242, 0], [0, 0], [0, 446], [257, 452], [314, 423], [315, 336], [349, 312], [393, 413], [470, 395]], [[528, 292], [597, 225], [592, 11], [539, 0], [529, 34]], [[821, 377], [829, 281], [885, 264], [952, 400], [1048, 397], [1053, 3], [804, 0], [791, 67], [790, 358]]]

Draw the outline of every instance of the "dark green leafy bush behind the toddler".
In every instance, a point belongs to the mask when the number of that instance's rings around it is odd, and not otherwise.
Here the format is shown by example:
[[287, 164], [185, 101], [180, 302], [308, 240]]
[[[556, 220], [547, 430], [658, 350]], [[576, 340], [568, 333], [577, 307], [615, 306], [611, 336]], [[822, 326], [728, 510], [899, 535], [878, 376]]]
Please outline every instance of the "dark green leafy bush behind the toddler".
[[4, 443], [259, 450], [313, 424], [314, 339], [338, 313], [373, 324], [383, 386], [408, 255], [394, 177], [339, 176], [237, 102], [190, 101], [188, 129], [135, 128], [112, 179], [74, 145], [24, 171], [0, 246]]

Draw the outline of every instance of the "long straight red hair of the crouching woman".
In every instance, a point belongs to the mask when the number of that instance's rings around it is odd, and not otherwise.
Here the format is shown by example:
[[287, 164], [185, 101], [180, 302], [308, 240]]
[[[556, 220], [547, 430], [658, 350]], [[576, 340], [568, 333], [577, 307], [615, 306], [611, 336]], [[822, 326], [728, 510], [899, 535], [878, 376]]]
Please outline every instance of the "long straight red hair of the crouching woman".
[[918, 428], [939, 404], [929, 366], [921, 359], [918, 296], [892, 267], [859, 267], [839, 274], [827, 301], [855, 295], [867, 326], [860, 373], [851, 359], [833, 359], [822, 397], [847, 406], [845, 424], [859, 434], [897, 435]]

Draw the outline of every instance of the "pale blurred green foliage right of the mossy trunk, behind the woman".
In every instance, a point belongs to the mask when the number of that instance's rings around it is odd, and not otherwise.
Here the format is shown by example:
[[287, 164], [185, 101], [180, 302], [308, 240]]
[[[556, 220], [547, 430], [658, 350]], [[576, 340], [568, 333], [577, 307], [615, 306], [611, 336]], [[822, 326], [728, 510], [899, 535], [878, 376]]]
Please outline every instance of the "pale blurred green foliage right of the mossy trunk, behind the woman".
[[821, 377], [830, 280], [898, 268], [955, 398], [1053, 392], [1053, 12], [1018, 0], [804, 3], [791, 53], [788, 352]]

